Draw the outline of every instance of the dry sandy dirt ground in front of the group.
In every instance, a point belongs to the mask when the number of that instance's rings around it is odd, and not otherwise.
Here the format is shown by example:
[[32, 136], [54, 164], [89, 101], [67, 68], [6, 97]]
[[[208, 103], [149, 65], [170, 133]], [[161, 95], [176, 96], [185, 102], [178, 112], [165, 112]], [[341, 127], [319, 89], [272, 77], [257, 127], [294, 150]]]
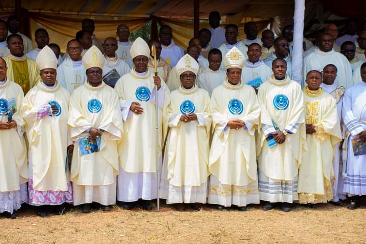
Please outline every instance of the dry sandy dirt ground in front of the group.
[[164, 205], [161, 212], [118, 206], [110, 212], [82, 214], [71, 208], [63, 216], [40, 218], [34, 209], [19, 210], [16, 220], [0, 217], [0, 243], [366, 243], [366, 201], [356, 210], [318, 204], [318, 209], [294, 205], [247, 212], [177, 212]]

